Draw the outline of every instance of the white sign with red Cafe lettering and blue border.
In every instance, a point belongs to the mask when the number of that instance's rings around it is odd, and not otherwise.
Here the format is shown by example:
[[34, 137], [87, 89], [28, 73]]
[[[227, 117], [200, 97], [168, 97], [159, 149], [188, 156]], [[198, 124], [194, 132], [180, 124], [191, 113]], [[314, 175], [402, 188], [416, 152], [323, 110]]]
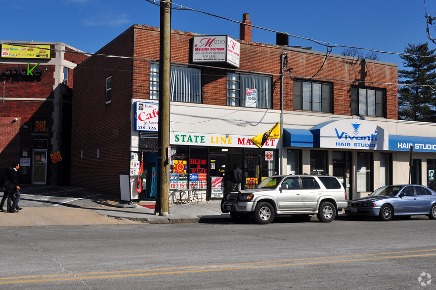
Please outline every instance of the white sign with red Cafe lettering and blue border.
[[159, 104], [136, 102], [136, 130], [157, 132], [159, 125]]

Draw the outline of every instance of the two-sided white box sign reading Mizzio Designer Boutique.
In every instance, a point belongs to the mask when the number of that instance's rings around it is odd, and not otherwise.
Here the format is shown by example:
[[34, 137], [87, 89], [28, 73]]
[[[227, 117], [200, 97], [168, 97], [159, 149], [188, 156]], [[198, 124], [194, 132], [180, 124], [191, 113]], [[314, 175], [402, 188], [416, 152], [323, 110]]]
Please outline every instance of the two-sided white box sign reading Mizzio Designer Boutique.
[[193, 63], [228, 63], [239, 68], [241, 44], [226, 36], [194, 36]]

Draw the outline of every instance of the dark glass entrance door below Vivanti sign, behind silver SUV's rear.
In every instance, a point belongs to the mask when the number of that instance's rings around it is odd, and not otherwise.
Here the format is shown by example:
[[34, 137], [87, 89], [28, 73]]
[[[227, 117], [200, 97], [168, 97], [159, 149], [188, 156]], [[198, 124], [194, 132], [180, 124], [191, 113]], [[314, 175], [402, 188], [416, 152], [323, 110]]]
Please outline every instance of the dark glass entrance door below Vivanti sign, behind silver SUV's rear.
[[352, 199], [351, 186], [351, 152], [333, 151], [333, 176], [344, 185], [347, 199]]

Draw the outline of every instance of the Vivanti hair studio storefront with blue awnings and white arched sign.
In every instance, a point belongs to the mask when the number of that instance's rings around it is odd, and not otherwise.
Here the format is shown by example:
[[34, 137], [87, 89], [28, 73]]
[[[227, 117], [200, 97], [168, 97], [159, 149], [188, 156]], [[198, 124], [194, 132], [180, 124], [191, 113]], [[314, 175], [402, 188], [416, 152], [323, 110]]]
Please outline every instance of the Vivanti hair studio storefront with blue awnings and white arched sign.
[[341, 119], [308, 130], [285, 128], [286, 172], [336, 176], [348, 198], [409, 180], [436, 189], [436, 138], [391, 134], [410, 131], [424, 135], [427, 126], [434, 124]]

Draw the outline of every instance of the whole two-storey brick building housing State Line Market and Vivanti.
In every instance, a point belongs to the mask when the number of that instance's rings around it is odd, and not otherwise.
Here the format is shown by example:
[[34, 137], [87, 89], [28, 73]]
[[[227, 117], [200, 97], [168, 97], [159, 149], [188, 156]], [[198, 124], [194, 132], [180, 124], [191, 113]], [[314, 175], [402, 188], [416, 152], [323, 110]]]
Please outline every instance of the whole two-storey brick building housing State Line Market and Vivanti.
[[[243, 21], [251, 23], [248, 14]], [[396, 64], [288, 46], [283, 35], [254, 42], [242, 24], [239, 38], [172, 31], [171, 188], [219, 198], [233, 164], [244, 188], [278, 173], [329, 174], [354, 198], [407, 182], [408, 146], [399, 144], [408, 135], [421, 142], [435, 125], [397, 120]], [[153, 200], [159, 28], [133, 25], [97, 54], [74, 70], [71, 182], [119, 193], [119, 174], [130, 175], [131, 200]], [[281, 139], [262, 148], [250, 141], [281, 115]], [[421, 152], [412, 178], [433, 186], [422, 172], [436, 169], [436, 151]]]

